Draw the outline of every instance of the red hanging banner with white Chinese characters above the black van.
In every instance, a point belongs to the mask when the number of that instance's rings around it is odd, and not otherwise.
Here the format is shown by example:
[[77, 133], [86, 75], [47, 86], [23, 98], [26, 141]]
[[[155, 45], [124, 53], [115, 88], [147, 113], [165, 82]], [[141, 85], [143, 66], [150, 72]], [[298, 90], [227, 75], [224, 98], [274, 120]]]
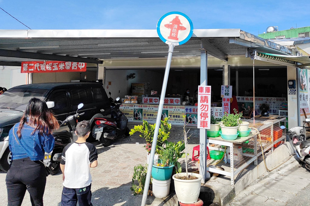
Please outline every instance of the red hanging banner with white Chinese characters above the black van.
[[23, 61], [21, 73], [86, 72], [86, 63], [71, 61]]

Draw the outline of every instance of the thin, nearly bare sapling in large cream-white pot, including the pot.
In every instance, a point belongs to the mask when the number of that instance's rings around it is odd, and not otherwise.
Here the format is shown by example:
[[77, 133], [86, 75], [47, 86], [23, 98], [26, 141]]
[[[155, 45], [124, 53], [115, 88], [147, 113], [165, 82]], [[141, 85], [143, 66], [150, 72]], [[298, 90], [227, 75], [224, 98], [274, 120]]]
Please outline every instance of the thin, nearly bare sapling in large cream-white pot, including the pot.
[[175, 183], [175, 194], [177, 195], [177, 198], [179, 202], [184, 204], [192, 204], [197, 202], [199, 194], [200, 194], [200, 187], [201, 187], [201, 179], [202, 176], [200, 174], [195, 173], [188, 173], [187, 169], [187, 139], [190, 137], [187, 137], [187, 134], [189, 132], [186, 131], [185, 126], [185, 118], [186, 116], [183, 116], [184, 118], [184, 143], [185, 143], [185, 173], [178, 173], [172, 176]]

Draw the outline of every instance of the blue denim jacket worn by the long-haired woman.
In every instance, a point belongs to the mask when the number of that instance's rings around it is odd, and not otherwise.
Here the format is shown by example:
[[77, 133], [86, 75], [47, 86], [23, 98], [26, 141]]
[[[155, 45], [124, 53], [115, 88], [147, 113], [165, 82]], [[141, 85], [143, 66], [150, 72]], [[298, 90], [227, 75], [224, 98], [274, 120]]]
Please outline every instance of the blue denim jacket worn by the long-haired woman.
[[9, 148], [12, 152], [12, 159], [22, 159], [29, 157], [32, 161], [44, 159], [44, 153], [50, 153], [54, 149], [55, 140], [53, 135], [40, 135], [39, 131], [33, 132], [35, 128], [30, 127], [26, 123], [21, 129], [21, 138], [17, 135], [20, 123], [14, 125], [9, 132]]

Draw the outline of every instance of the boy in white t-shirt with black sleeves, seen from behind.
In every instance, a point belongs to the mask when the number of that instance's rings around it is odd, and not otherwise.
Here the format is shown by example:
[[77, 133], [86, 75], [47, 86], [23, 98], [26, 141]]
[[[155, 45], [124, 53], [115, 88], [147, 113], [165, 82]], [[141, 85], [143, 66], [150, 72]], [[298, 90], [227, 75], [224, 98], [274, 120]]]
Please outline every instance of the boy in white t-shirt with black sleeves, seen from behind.
[[79, 122], [75, 131], [78, 140], [68, 144], [62, 153], [62, 206], [76, 206], [77, 203], [79, 206], [92, 205], [90, 168], [98, 165], [98, 153], [94, 145], [86, 142], [90, 129], [89, 122]]

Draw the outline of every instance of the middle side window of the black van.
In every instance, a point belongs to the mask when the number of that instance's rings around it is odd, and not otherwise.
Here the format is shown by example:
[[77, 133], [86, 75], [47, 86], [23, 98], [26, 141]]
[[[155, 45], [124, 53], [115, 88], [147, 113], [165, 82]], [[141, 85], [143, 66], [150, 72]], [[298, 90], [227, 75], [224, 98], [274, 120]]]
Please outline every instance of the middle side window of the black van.
[[83, 104], [94, 103], [93, 95], [90, 88], [72, 89], [70, 91], [73, 106], [76, 106], [79, 103]]

